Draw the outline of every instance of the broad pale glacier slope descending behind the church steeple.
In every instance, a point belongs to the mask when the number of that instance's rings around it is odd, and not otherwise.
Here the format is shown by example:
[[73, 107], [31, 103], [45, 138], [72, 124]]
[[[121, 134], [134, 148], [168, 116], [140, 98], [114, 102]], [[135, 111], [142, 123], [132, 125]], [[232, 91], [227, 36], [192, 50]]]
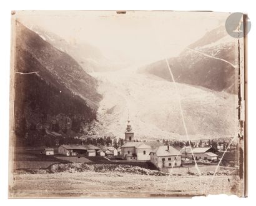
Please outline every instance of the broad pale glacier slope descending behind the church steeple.
[[[128, 113], [137, 139], [186, 139], [172, 82], [127, 69], [92, 74], [103, 99], [98, 132], [123, 137]], [[178, 84], [185, 123], [191, 139], [230, 137], [237, 128], [237, 97]]]

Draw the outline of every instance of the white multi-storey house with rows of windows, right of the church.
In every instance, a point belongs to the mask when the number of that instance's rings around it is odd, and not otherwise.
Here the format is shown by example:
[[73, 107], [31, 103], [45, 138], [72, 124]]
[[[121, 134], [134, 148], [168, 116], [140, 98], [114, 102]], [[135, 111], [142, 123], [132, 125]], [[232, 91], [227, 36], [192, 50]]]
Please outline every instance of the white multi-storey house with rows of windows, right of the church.
[[150, 162], [159, 169], [180, 167], [181, 155], [174, 147], [164, 145], [150, 152]]

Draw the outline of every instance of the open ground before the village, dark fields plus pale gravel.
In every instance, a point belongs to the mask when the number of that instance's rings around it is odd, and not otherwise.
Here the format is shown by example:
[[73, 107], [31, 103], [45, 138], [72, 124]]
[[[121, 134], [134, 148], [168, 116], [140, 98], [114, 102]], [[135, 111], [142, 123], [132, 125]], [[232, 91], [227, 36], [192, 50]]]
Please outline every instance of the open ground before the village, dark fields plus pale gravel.
[[[41, 155], [40, 151], [40, 149], [16, 151], [14, 155], [16, 172], [9, 182], [9, 197], [172, 197], [177, 195], [182, 197], [205, 194], [241, 195], [240, 191], [242, 191], [242, 181], [234, 175], [232, 172], [234, 169], [227, 167], [220, 167], [220, 172], [210, 185], [216, 165], [199, 165], [202, 176], [196, 175], [194, 165], [189, 168], [184, 165], [174, 168], [172, 170], [174, 175], [169, 177], [162, 174], [148, 175], [147, 172], [152, 171], [152, 168], [147, 163], [122, 162], [121, 164], [121, 162], [109, 162], [104, 157], [47, 156]], [[62, 164], [62, 170], [51, 166], [59, 164]], [[77, 172], [81, 168], [80, 164], [89, 166], [86, 166], [86, 171]], [[96, 164], [99, 165], [96, 167]], [[65, 165], [68, 166], [63, 170]], [[70, 169], [71, 166], [76, 170]], [[134, 171], [138, 166], [144, 168], [146, 172]], [[114, 170], [116, 167], [120, 170]], [[50, 171], [50, 168], [55, 170]], [[130, 173], [127, 172], [129, 169], [131, 169]]]

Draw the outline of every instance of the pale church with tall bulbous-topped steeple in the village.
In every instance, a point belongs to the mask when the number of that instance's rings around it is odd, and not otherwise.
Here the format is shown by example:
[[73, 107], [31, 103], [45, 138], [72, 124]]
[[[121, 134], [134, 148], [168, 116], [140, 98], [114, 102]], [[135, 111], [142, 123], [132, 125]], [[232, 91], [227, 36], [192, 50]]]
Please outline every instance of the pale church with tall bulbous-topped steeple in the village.
[[160, 142], [135, 142], [132, 125], [128, 120], [126, 132], [124, 133], [125, 144], [121, 147], [122, 159], [129, 161], [150, 161], [150, 152], [160, 145]]

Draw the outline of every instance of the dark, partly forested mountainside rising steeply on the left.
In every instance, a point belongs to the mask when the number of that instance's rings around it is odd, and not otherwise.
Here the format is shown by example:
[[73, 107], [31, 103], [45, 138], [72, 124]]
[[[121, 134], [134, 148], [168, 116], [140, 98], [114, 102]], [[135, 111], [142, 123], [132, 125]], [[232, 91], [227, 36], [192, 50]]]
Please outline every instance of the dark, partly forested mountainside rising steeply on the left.
[[[97, 81], [68, 54], [16, 22], [15, 131], [17, 137], [42, 138], [81, 132], [96, 120], [101, 101]], [[39, 144], [39, 141], [37, 142]]]

